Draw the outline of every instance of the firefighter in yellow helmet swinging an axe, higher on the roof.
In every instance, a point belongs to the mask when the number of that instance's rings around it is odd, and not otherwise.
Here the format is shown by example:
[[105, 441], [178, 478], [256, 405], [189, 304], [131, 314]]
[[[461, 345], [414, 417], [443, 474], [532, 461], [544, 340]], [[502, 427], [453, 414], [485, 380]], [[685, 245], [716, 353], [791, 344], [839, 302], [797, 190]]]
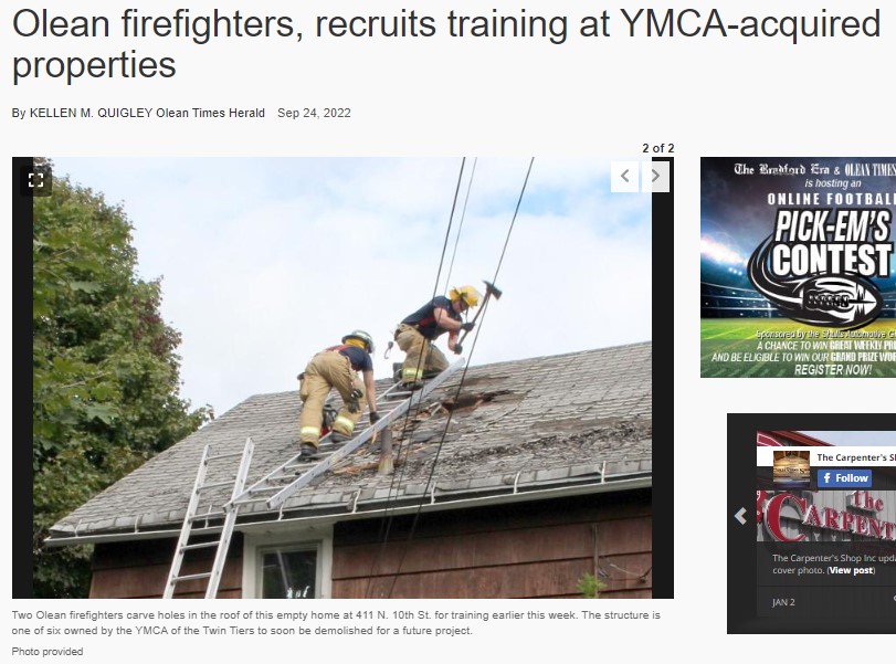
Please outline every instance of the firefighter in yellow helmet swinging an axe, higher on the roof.
[[433, 341], [447, 333], [449, 350], [461, 352], [458, 333], [470, 331], [475, 325], [464, 323], [461, 315], [478, 306], [481, 297], [473, 286], [452, 288], [447, 297], [434, 297], [399, 324], [396, 344], [407, 354], [401, 367], [402, 383], [413, 389], [420, 387], [423, 379], [447, 369], [445, 356], [433, 346]]

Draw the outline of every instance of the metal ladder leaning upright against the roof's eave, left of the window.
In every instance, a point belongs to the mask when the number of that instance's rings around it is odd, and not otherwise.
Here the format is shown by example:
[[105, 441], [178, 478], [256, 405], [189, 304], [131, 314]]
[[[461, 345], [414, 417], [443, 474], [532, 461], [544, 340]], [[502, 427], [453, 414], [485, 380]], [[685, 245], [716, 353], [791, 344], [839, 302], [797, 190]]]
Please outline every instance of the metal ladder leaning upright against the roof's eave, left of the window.
[[[193, 483], [193, 489], [190, 494], [190, 502], [187, 505], [187, 514], [183, 517], [183, 526], [181, 526], [180, 529], [180, 538], [178, 539], [177, 547], [175, 548], [175, 558], [171, 561], [171, 569], [168, 572], [168, 581], [165, 583], [165, 592], [162, 593], [164, 599], [171, 599], [175, 596], [175, 588], [179, 582], [194, 579], [208, 579], [208, 584], [205, 587], [205, 599], [213, 599], [218, 596], [218, 586], [221, 582], [221, 573], [224, 570], [224, 561], [226, 560], [231, 536], [233, 535], [233, 525], [236, 521], [236, 510], [224, 508], [223, 513], [213, 513], [211, 512], [211, 503], [205, 502], [204, 504], [208, 505], [209, 512], [200, 512], [200, 505], [203, 504], [203, 498], [205, 497], [203, 494], [208, 489], [231, 485], [230, 481], [207, 483], [205, 476], [208, 475], [209, 466], [215, 464], [215, 462], [240, 456], [240, 467], [236, 471], [236, 475], [232, 478], [232, 502], [233, 498], [241, 494], [245, 487], [245, 479], [249, 475], [249, 465], [252, 462], [252, 452], [254, 446], [255, 445], [252, 442], [252, 439], [247, 438], [242, 452], [215, 454], [210, 444], [205, 445], [205, 449], [202, 451], [202, 459], [199, 462], [199, 471], [196, 474], [196, 482]], [[220, 538], [194, 544], [190, 542], [190, 536], [193, 534], [196, 524], [202, 520], [208, 523], [208, 519], [221, 516], [224, 517], [224, 525], [223, 529], [221, 530]], [[190, 575], [180, 573], [180, 568], [183, 563], [183, 558], [186, 557], [187, 551], [213, 547], [215, 548], [215, 554], [211, 571]]]

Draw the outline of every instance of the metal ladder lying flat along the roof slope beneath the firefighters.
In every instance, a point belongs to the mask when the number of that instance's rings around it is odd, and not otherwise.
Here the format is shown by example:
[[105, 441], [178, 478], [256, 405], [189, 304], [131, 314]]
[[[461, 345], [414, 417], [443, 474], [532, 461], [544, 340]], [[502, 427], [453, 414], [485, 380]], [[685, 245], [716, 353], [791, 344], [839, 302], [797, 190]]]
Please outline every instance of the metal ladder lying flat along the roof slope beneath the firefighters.
[[[329, 434], [325, 435], [320, 439], [318, 449], [329, 447], [330, 451], [318, 453], [317, 459], [312, 462], [305, 461], [301, 459], [299, 454], [296, 454], [244, 492], [234, 493], [234, 498], [224, 506], [224, 509], [235, 512], [234, 508], [250, 503], [264, 503], [268, 509], [276, 509], [299, 488], [307, 486], [315, 477], [323, 475], [337, 462], [371, 440], [373, 434], [391, 426], [411, 408], [419, 405], [430, 392], [463, 366], [464, 359], [461, 358], [435, 378], [428, 380], [419, 390], [402, 391], [401, 383], [393, 384], [377, 399], [377, 412], [380, 413], [380, 419], [375, 424], [371, 425], [368, 421], [367, 428], [337, 449], [333, 449], [329, 444]], [[397, 401], [398, 399], [402, 400]]]

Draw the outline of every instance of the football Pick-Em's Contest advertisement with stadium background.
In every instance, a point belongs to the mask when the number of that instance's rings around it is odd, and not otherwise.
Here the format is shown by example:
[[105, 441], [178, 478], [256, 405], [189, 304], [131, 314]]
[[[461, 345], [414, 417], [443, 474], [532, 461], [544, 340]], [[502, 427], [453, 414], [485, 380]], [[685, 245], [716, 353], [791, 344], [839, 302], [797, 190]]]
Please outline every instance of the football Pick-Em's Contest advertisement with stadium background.
[[896, 158], [700, 160], [700, 376], [896, 376]]

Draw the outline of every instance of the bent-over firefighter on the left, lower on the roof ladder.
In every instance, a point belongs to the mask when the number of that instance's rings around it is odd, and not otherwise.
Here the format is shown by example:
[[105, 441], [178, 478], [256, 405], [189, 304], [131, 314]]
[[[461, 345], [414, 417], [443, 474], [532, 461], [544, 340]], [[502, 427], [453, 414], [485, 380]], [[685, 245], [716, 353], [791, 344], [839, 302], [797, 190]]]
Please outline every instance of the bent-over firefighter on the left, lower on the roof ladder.
[[[370, 423], [377, 422], [377, 390], [373, 386], [373, 339], [366, 331], [356, 329], [345, 337], [339, 346], [331, 346], [315, 355], [299, 376], [298, 397], [302, 399], [302, 417], [298, 422], [299, 454], [312, 457], [317, 454], [324, 400], [331, 388], [342, 398], [342, 408], [333, 422], [330, 440], [342, 442], [352, 436], [355, 424], [361, 419], [361, 399], [370, 407]], [[363, 380], [358, 379], [358, 371]]]

